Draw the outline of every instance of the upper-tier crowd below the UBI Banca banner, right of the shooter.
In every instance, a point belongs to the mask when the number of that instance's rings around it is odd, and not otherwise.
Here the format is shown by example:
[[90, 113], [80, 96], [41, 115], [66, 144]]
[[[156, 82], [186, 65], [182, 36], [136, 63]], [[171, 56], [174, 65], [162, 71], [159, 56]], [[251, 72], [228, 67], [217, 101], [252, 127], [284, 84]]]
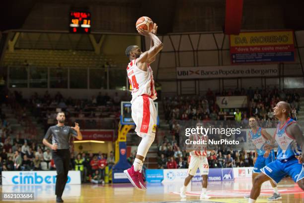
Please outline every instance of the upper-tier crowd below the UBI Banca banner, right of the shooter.
[[[243, 109], [221, 109], [216, 103], [217, 96], [247, 96], [248, 107]], [[279, 101], [291, 104], [292, 117], [297, 120], [300, 96], [296, 92], [270, 90], [253, 90], [249, 88], [235, 91], [224, 90], [221, 94], [210, 89], [205, 96], [176, 96], [163, 99], [165, 118], [172, 126], [174, 120], [228, 120], [228, 112], [233, 111], [233, 120], [247, 124], [248, 117], [255, 116], [259, 120], [274, 120], [272, 109]], [[229, 111], [227, 111], [229, 110]], [[239, 112], [237, 112], [239, 110]], [[237, 112], [237, 113], [234, 113]], [[240, 113], [240, 116], [238, 116]]]

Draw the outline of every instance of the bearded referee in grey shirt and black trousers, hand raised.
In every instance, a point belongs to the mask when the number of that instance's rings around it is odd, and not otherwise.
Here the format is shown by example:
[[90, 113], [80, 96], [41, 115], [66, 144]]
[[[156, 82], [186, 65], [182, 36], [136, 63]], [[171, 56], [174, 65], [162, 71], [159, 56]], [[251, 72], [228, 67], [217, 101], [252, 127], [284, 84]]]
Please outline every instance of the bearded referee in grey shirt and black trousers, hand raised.
[[[79, 130], [78, 123], [75, 127], [65, 126], [66, 116], [64, 112], [57, 113], [57, 125], [49, 127], [44, 136], [42, 143], [53, 150], [53, 159], [56, 165], [56, 202], [63, 203], [61, 196], [65, 190], [68, 181], [68, 172], [70, 167], [70, 138], [71, 135], [78, 140], [82, 140], [82, 134]], [[52, 137], [52, 144], [48, 139]]]

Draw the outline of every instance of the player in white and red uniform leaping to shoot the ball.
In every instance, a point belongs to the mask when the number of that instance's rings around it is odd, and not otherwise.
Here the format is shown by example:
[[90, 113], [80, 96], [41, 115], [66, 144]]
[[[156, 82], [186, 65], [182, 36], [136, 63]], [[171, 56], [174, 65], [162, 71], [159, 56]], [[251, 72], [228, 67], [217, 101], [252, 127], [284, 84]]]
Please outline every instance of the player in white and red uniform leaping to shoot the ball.
[[154, 141], [156, 130], [156, 108], [153, 102], [156, 100], [156, 92], [150, 64], [162, 50], [163, 44], [155, 35], [156, 23], [151, 32], [141, 28], [137, 28], [137, 31], [143, 36], [150, 37], [151, 47], [146, 52], [142, 52], [141, 48], [136, 45], [128, 46], [126, 49], [126, 56], [130, 59], [127, 73], [132, 86], [132, 118], [136, 124], [135, 131], [138, 136], [142, 137], [142, 140], [132, 167], [125, 170], [124, 173], [135, 188], [146, 190], [142, 168], [148, 150]]

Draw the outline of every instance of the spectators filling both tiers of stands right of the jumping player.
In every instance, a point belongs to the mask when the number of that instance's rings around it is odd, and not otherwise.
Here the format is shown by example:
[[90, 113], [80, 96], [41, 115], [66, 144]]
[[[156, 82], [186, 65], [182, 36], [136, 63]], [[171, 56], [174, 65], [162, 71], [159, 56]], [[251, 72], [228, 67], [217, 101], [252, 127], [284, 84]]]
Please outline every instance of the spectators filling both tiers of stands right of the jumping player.
[[[217, 96], [247, 96], [248, 107], [221, 109], [216, 103]], [[279, 101], [291, 104], [291, 117], [297, 120], [300, 110], [300, 96], [296, 92], [279, 91], [277, 88], [261, 90], [256, 88], [224, 90], [214, 93], [210, 89], [205, 96], [176, 96], [163, 98], [165, 119], [171, 135], [165, 137], [158, 149], [158, 168], [187, 168], [189, 154], [179, 148], [178, 120], [223, 121], [234, 120], [239, 126], [248, 128], [248, 118], [254, 116], [261, 127], [276, 127], [273, 107]], [[254, 153], [244, 150], [216, 150], [208, 152], [210, 168], [253, 166]]]

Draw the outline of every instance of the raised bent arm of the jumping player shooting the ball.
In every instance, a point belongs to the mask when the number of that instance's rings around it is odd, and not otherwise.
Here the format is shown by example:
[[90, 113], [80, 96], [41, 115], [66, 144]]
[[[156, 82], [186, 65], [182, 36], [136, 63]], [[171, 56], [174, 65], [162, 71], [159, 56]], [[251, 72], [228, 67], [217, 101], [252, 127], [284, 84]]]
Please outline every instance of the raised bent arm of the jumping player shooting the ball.
[[137, 63], [138, 64], [150, 63], [153, 59], [155, 59], [156, 54], [158, 54], [162, 50], [163, 44], [160, 41], [160, 39], [156, 35], [154, 35], [152, 32], [149, 32], [149, 31], [143, 30], [143, 29], [137, 29], [137, 31], [141, 35], [149, 36], [153, 41], [152, 48], [149, 49], [148, 51], [142, 53], [141, 56], [139, 57]]

